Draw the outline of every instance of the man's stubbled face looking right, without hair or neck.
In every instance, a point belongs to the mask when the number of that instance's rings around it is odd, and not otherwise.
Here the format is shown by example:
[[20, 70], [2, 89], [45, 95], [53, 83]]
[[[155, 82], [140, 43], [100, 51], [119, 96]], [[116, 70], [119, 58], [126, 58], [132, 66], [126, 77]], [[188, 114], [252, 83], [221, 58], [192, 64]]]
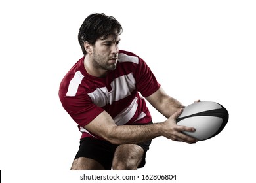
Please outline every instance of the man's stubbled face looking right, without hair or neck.
[[106, 39], [96, 40], [92, 57], [95, 68], [105, 71], [116, 69], [119, 41], [119, 35], [109, 35]]

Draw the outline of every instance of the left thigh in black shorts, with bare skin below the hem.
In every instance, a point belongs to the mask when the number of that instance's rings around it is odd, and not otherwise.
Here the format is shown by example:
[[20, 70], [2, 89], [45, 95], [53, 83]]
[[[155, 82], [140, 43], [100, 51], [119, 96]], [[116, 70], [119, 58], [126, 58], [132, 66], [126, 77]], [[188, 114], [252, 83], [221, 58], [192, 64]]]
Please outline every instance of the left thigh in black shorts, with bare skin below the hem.
[[100, 164], [104, 169], [111, 169], [116, 147], [110, 142], [95, 138], [81, 139], [72, 167], [84, 167], [82, 164], [87, 164], [91, 169], [102, 169], [98, 166]]

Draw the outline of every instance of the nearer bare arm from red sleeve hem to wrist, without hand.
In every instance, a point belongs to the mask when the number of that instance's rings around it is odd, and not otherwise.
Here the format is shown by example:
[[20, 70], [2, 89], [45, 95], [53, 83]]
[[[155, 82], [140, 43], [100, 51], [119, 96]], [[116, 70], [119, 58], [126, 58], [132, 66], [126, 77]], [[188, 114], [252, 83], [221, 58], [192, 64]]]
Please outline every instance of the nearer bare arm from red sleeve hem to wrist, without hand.
[[84, 127], [112, 144], [134, 144], [164, 135], [165, 122], [145, 125], [117, 126], [105, 111]]

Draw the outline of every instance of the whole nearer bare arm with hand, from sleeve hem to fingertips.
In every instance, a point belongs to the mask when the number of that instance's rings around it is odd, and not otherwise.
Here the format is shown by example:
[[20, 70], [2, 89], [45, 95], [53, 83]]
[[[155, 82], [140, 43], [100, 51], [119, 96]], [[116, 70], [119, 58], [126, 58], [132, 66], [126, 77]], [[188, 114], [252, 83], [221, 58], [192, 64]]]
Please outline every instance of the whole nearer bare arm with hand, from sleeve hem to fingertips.
[[165, 122], [156, 124], [117, 126], [111, 116], [103, 111], [93, 121], [85, 125], [85, 129], [112, 144], [137, 144], [159, 136], [173, 141], [195, 142], [195, 139], [181, 133], [181, 131], [192, 131], [191, 127], [182, 127], [176, 124], [175, 119], [181, 112], [182, 110], [179, 110]]

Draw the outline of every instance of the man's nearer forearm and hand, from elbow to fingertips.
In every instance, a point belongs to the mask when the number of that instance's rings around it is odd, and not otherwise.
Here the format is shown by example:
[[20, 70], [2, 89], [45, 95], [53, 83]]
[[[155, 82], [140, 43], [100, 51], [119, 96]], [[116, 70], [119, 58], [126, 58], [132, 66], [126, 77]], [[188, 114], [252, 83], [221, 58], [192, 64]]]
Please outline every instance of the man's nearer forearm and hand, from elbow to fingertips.
[[154, 139], [159, 136], [172, 139], [173, 141], [182, 141], [195, 143], [197, 140], [184, 135], [181, 131], [194, 131], [192, 127], [177, 125], [175, 119], [182, 112], [182, 109], [177, 110], [165, 122], [148, 125], [123, 125], [112, 127], [112, 130], [106, 137], [106, 140], [112, 144], [137, 144]]

